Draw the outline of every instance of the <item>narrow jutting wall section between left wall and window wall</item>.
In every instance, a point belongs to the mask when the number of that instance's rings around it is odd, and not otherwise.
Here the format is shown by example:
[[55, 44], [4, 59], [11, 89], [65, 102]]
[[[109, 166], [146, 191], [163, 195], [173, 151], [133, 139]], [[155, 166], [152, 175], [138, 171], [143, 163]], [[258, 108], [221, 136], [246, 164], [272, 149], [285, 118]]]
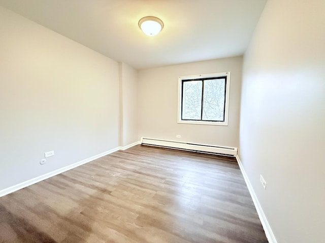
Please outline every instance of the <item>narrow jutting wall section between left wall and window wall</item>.
[[138, 142], [138, 71], [119, 63], [120, 146]]

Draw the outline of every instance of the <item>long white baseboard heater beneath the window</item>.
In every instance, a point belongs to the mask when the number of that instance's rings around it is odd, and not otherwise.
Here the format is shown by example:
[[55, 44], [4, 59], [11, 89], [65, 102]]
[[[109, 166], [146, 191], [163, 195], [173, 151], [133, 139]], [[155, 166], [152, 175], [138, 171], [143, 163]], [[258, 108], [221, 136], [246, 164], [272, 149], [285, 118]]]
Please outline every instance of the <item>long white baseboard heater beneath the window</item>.
[[141, 138], [141, 144], [156, 146], [156, 147], [189, 150], [194, 152], [221, 154], [221, 155], [228, 155], [228, 156], [237, 155], [237, 148], [233, 148], [233, 147], [204, 145], [204, 144], [186, 143], [186, 142], [169, 141], [169, 140], [152, 139], [152, 138]]

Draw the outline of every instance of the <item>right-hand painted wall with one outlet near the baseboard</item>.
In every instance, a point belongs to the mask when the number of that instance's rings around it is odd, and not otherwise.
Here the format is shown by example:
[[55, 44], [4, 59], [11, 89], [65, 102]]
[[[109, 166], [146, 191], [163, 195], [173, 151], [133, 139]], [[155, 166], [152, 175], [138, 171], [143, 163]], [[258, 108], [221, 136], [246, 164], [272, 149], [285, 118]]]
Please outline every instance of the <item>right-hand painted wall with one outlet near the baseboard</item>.
[[268, 1], [244, 56], [240, 159], [279, 243], [324, 242], [324, 13]]

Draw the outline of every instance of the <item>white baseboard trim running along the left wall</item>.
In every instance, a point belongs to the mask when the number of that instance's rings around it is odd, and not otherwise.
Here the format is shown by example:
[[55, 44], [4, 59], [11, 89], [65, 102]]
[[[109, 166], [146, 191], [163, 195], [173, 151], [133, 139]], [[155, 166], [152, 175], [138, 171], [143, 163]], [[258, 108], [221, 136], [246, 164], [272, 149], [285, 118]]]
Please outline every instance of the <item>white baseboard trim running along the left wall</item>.
[[86, 163], [89, 163], [89, 162], [92, 161], [92, 160], [98, 159], [98, 158], [100, 158], [100, 157], [103, 157], [103, 156], [108, 155], [108, 154], [110, 154], [110, 153], [116, 152], [116, 151], [118, 151], [118, 150], [125, 150], [125, 149], [127, 149], [127, 148], [131, 148], [131, 147], [133, 147], [133, 146], [135, 146], [135, 145], [137, 145], [137, 144], [140, 144], [140, 142], [138, 141], [138, 142], [135, 142], [135, 143], [129, 144], [129, 145], [124, 146], [124, 147], [113, 148], [113, 149], [110, 149], [110, 150], [108, 150], [108, 151], [106, 151], [106, 152], [103, 152], [103, 153], [100, 153], [100, 154], [97, 154], [97, 155], [91, 156], [91, 157], [89, 157], [89, 158], [83, 159], [83, 160], [81, 160], [81, 161], [79, 161], [79, 162], [77, 162], [77, 163], [74, 163], [74, 164], [72, 164], [72, 165], [69, 165], [69, 166], [66, 166], [66, 167], [60, 168], [60, 169], [58, 169], [58, 170], [55, 170], [55, 171], [52, 171], [52, 172], [46, 173], [46, 174], [41, 175], [41, 176], [38, 176], [38, 177], [36, 177], [36, 178], [33, 178], [33, 179], [30, 179], [30, 180], [27, 180], [27, 181], [21, 182], [21, 183], [19, 183], [19, 184], [17, 184], [17, 185], [10, 186], [10, 187], [8, 187], [8, 188], [5, 188], [5, 189], [3, 189], [3, 190], [0, 190], [0, 197], [5, 196], [5, 195], [7, 195], [7, 194], [9, 194], [9, 193], [12, 193], [12, 192], [14, 192], [14, 191], [18, 191], [18, 190], [20, 190], [20, 189], [22, 189], [22, 188], [24, 188], [24, 187], [30, 186], [30, 185], [35, 184], [35, 183], [37, 183], [37, 182], [40, 182], [40, 181], [46, 180], [46, 179], [48, 179], [48, 178], [50, 178], [50, 177], [52, 177], [52, 176], [56, 176], [56, 175], [61, 174], [61, 173], [63, 173], [63, 172], [69, 171], [69, 170], [74, 169], [74, 168], [76, 168], [76, 167], [78, 167], [78, 166], [81, 166], [81, 165], [84, 165], [84, 164], [86, 164]]

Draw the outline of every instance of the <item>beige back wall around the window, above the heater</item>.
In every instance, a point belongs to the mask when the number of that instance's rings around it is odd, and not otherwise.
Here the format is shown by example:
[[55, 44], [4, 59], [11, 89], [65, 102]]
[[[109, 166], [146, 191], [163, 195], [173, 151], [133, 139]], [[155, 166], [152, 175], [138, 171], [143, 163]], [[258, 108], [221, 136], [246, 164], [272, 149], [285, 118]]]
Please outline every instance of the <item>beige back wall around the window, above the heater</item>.
[[[178, 124], [178, 77], [226, 71], [231, 71], [229, 125]], [[241, 76], [242, 57], [139, 70], [139, 136], [237, 147]]]

